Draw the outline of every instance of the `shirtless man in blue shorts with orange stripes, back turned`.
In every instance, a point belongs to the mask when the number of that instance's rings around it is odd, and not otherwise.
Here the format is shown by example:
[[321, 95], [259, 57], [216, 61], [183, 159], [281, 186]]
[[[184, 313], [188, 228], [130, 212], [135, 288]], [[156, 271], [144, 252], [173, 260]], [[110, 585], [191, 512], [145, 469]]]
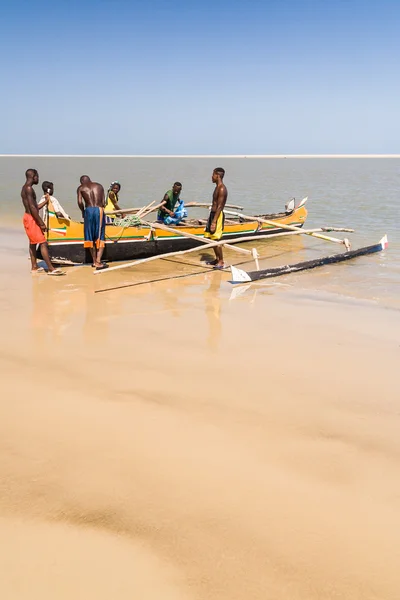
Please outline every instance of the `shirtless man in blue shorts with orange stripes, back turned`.
[[90, 248], [93, 266], [100, 271], [108, 267], [101, 262], [105, 246], [104, 188], [100, 183], [90, 181], [87, 175], [82, 175], [80, 182], [77, 196], [85, 223], [84, 247]]

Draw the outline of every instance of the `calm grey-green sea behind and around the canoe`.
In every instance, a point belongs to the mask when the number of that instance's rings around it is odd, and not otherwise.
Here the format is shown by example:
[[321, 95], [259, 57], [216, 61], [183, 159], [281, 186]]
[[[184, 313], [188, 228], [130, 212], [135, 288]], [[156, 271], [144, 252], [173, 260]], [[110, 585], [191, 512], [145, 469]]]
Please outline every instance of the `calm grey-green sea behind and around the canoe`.
[[[213, 191], [211, 172], [217, 166], [226, 170], [229, 202], [244, 206], [247, 213], [279, 212], [288, 199], [308, 196], [307, 227], [352, 227], [356, 230], [349, 234], [353, 248], [378, 242], [388, 234], [389, 248], [385, 252], [282, 277], [276, 280], [279, 285], [400, 308], [399, 158], [1, 157], [1, 223], [21, 223], [20, 189], [27, 168], [36, 168], [40, 181], [53, 181], [55, 196], [72, 217], [78, 218], [76, 188], [83, 174], [105, 188], [118, 180], [122, 186], [121, 204], [132, 207], [161, 199], [176, 180], [182, 182], [182, 197], [187, 202], [209, 201]], [[316, 258], [341, 248], [308, 236], [270, 240], [261, 245], [261, 254], [268, 257], [262, 264]]]

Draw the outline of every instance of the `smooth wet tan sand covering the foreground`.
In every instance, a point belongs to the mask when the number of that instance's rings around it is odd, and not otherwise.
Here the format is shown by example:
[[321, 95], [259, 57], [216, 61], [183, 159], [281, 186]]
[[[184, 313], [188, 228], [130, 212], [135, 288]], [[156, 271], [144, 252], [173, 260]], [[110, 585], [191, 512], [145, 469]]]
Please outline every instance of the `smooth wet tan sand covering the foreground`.
[[398, 311], [0, 240], [2, 598], [399, 598]]

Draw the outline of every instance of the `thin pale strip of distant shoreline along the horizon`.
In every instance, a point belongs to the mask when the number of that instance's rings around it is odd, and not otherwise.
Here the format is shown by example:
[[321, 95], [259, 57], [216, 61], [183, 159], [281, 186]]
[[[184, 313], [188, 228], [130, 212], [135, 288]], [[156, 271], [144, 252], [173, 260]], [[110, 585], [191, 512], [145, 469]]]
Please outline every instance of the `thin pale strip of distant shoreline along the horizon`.
[[0, 154], [0, 158], [400, 158], [400, 154]]

